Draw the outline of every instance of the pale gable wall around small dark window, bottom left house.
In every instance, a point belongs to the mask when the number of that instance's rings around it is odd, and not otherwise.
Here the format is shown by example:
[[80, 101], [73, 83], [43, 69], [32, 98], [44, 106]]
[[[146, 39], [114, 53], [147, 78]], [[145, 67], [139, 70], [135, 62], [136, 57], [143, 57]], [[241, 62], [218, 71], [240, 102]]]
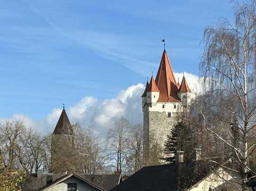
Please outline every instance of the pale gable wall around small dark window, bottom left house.
[[92, 187], [90, 184], [83, 182], [75, 176], [71, 176], [62, 183], [47, 189], [47, 191], [67, 191], [67, 183], [76, 183], [77, 191], [99, 191], [98, 189]]

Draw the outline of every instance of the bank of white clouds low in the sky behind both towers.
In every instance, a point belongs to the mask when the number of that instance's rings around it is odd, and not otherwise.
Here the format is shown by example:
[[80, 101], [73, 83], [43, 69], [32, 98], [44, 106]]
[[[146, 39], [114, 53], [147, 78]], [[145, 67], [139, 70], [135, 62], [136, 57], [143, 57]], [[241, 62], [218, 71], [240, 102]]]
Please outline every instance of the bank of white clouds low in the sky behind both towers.
[[[181, 79], [183, 73], [174, 73], [176, 79]], [[200, 78], [190, 73], [184, 73], [187, 82], [192, 91], [200, 90]], [[141, 108], [141, 94], [144, 92], [143, 84], [136, 84], [121, 90], [120, 93], [112, 99], [99, 100], [93, 97], [84, 97], [74, 106], [66, 107], [66, 112], [71, 123], [79, 122], [81, 126], [94, 125], [99, 135], [104, 136], [107, 129], [111, 127], [115, 119], [121, 116], [126, 117], [130, 122], [143, 122]], [[58, 118], [61, 114], [61, 108], [54, 108], [44, 119], [33, 121], [29, 116], [13, 115], [9, 120], [22, 120], [25, 125], [39, 130], [42, 133], [53, 132]], [[8, 119], [0, 119], [3, 122]]]

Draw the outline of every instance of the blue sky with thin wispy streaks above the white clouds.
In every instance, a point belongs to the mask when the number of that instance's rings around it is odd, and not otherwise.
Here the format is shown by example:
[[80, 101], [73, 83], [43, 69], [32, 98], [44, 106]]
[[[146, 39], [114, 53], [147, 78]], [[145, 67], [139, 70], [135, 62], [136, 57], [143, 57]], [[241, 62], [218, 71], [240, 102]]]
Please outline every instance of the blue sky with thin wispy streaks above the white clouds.
[[64, 102], [103, 100], [145, 83], [163, 51], [198, 75], [206, 25], [229, 0], [0, 0], [0, 118], [34, 120]]

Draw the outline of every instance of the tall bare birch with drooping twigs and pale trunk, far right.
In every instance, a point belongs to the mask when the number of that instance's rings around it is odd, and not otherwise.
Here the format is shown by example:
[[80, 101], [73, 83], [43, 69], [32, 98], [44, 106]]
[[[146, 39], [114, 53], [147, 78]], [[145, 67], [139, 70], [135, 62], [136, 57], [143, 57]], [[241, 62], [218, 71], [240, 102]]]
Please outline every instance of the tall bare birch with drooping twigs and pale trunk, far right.
[[233, 173], [232, 180], [226, 181], [245, 191], [256, 147], [256, 1], [235, 4], [234, 15], [234, 25], [224, 20], [205, 29], [200, 70], [207, 91], [198, 99], [197, 111], [202, 119], [198, 126], [210, 132], [218, 145], [223, 144], [228, 156], [235, 155], [235, 165], [219, 164]]

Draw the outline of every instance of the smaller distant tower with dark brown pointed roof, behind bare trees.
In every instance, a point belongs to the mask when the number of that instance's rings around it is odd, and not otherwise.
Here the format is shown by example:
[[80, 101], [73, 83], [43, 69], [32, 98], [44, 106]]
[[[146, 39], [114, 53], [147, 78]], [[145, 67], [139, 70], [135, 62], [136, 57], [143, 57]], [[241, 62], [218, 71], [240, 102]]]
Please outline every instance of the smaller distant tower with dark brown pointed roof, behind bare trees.
[[70, 163], [75, 161], [74, 157], [74, 130], [63, 107], [56, 127], [51, 134], [50, 172], [71, 172]]

